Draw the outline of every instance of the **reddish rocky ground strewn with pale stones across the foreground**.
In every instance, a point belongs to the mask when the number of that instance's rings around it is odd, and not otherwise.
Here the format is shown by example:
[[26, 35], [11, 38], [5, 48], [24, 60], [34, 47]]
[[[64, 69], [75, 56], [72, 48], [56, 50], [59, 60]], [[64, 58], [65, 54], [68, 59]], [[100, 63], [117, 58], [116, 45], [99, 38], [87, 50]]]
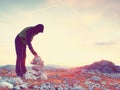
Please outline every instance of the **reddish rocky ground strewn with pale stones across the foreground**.
[[63, 69], [45, 66], [44, 73], [47, 80], [26, 80], [16, 76], [15, 66], [1, 66], [0, 90], [120, 90], [119, 72], [103, 73], [82, 67]]

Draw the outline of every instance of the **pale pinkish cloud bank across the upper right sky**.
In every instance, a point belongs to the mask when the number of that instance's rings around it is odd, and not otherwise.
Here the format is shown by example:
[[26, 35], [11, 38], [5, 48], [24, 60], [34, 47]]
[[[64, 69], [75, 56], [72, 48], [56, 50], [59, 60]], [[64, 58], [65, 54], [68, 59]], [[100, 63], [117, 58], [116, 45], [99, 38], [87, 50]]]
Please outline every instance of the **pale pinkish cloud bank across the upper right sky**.
[[74, 9], [76, 11], [99, 13], [107, 17], [120, 16], [119, 0], [47, 0], [49, 6], [61, 6]]

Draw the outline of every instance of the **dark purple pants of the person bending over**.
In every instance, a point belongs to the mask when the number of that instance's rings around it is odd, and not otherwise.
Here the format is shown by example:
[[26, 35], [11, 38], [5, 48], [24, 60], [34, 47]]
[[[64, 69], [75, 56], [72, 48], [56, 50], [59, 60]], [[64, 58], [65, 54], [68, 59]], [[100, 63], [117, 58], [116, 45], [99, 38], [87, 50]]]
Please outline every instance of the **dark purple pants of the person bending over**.
[[15, 38], [16, 49], [16, 73], [18, 76], [23, 76], [26, 73], [25, 59], [26, 59], [26, 45], [22, 43], [21, 38], [17, 36]]

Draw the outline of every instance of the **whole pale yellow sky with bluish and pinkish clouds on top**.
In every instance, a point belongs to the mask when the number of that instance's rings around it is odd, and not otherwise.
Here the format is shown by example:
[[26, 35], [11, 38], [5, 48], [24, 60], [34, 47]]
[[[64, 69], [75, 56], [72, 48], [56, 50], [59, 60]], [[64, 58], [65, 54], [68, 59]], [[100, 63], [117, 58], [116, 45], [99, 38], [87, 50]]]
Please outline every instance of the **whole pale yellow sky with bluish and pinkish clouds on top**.
[[[0, 64], [16, 63], [14, 40], [44, 25], [32, 45], [45, 65], [120, 65], [120, 0], [0, 0]], [[34, 58], [27, 47], [26, 65]]]

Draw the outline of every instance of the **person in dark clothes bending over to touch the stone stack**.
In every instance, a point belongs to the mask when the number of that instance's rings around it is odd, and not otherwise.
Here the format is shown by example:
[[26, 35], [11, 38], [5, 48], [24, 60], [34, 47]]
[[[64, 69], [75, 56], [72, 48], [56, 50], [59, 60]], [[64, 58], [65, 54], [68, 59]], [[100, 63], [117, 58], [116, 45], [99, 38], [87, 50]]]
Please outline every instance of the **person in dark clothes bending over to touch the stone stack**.
[[15, 49], [16, 49], [16, 74], [17, 76], [23, 77], [26, 73], [25, 59], [26, 59], [26, 45], [29, 47], [31, 53], [34, 56], [38, 56], [37, 52], [33, 49], [31, 41], [38, 33], [43, 33], [44, 26], [38, 24], [36, 26], [27, 27], [23, 29], [15, 38]]

